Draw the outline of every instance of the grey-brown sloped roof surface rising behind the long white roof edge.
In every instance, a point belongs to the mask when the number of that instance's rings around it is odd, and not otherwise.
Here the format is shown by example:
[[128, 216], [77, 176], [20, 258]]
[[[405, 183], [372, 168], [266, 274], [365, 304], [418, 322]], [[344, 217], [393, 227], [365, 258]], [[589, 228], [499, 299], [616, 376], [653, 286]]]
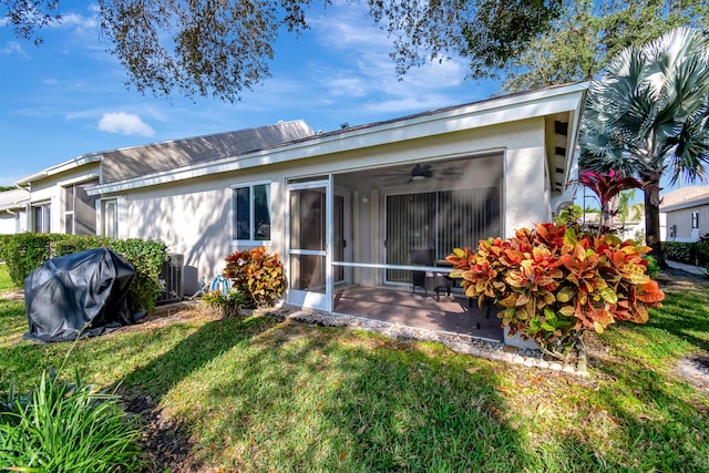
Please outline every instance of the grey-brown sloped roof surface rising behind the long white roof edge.
[[315, 135], [302, 120], [103, 152], [102, 184], [240, 155]]

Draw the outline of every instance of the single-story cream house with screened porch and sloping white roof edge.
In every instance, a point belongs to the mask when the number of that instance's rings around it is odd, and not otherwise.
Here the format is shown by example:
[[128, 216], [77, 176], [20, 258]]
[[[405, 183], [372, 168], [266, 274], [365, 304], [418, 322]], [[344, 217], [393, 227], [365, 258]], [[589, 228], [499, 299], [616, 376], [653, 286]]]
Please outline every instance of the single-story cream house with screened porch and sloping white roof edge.
[[[295, 121], [94, 153], [20, 182], [32, 191], [28, 228], [51, 214], [52, 230], [91, 233], [93, 208], [96, 233], [160, 238], [207, 280], [228, 254], [265, 245], [285, 263], [291, 305], [465, 331], [472, 309], [412, 294], [412, 271], [445, 274], [454, 247], [513, 236], [571, 199], [586, 89], [327, 133]], [[417, 266], [414, 253], [430, 260]]]

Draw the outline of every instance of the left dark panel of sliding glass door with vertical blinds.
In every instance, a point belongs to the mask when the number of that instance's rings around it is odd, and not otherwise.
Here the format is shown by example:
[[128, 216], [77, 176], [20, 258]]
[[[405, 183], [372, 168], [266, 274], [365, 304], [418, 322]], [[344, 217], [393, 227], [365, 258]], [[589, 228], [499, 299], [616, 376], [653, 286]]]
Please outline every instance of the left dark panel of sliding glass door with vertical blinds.
[[[387, 196], [387, 264], [409, 265], [412, 249], [435, 248], [435, 193]], [[390, 282], [411, 282], [411, 271], [388, 269]]]

